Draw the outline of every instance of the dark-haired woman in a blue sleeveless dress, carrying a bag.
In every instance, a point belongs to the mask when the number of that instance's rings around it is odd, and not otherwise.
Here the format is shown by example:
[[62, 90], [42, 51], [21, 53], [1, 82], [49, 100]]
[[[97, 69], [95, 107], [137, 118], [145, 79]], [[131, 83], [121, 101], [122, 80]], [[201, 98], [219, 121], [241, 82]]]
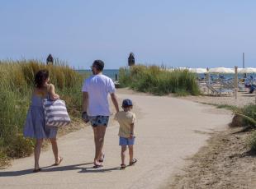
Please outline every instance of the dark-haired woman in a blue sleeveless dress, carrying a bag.
[[58, 128], [45, 126], [43, 99], [59, 99], [59, 95], [55, 93], [55, 85], [50, 84], [49, 71], [38, 71], [35, 77], [35, 84], [36, 88], [32, 95], [31, 107], [26, 115], [26, 123], [23, 131], [25, 137], [36, 139], [34, 173], [40, 171], [39, 157], [44, 139], [50, 139], [52, 150], [55, 155], [54, 165], [59, 165], [63, 159], [59, 156], [56, 141]]

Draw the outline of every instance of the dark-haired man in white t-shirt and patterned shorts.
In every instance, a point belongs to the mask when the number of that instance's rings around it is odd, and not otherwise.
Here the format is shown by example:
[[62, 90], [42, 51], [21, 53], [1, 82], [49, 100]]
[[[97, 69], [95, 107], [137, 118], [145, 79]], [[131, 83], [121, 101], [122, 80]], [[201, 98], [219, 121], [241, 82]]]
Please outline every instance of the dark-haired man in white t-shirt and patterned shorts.
[[119, 112], [118, 103], [115, 95], [115, 85], [111, 78], [102, 74], [104, 62], [96, 60], [92, 64], [92, 76], [83, 83], [83, 114], [84, 122], [91, 122], [94, 133], [95, 157], [94, 167], [102, 166], [104, 154], [102, 148], [104, 136], [107, 129], [107, 123], [110, 116], [107, 96], [111, 95], [111, 100]]

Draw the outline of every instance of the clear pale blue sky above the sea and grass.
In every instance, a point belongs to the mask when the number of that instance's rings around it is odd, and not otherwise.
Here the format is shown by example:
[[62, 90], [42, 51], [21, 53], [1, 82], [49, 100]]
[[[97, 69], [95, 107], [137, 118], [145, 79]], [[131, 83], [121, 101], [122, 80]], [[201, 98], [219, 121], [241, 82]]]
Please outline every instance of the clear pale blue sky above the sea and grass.
[[256, 67], [256, 1], [0, 0], [0, 59]]

